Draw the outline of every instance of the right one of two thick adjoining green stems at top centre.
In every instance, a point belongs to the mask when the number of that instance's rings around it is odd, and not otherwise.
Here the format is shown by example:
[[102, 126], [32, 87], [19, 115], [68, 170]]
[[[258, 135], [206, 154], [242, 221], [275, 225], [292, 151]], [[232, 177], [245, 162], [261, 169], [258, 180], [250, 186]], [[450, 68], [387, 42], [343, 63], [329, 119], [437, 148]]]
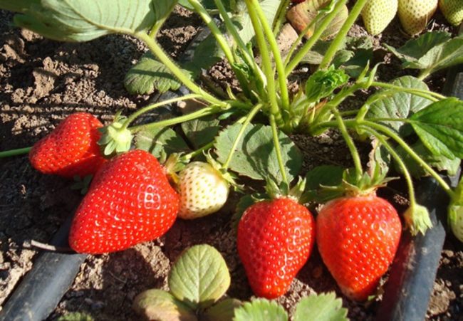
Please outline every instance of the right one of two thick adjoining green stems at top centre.
[[286, 83], [286, 74], [283, 65], [283, 59], [281, 58], [280, 48], [278, 43], [276, 43], [276, 38], [274, 36], [274, 32], [271, 30], [271, 26], [269, 25], [269, 21], [262, 10], [261, 5], [258, 1], [254, 1], [256, 6], [257, 16], [259, 16], [259, 20], [261, 21], [262, 27], [264, 27], [264, 33], [266, 35], [267, 41], [269, 41], [271, 52], [274, 55], [275, 60], [275, 67], [276, 73], [278, 75], [280, 91], [281, 91], [281, 105], [283, 109], [289, 109], [289, 94], [288, 94], [288, 84]]

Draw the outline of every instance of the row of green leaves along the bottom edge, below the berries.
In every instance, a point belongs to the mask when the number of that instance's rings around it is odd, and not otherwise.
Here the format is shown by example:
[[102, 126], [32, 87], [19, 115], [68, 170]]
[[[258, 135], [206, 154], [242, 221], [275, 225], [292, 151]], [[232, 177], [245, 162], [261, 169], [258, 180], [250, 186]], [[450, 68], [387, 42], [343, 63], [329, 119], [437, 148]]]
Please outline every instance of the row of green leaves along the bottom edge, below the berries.
[[[227, 264], [212, 246], [197, 245], [175, 261], [168, 278], [170, 291], [146, 290], [133, 308], [147, 320], [259, 321], [288, 320], [287, 312], [269, 300], [243, 303], [224, 298], [230, 285]], [[222, 299], [222, 300], [221, 300]], [[347, 309], [334, 293], [311, 295], [296, 307], [294, 320], [347, 320]]]

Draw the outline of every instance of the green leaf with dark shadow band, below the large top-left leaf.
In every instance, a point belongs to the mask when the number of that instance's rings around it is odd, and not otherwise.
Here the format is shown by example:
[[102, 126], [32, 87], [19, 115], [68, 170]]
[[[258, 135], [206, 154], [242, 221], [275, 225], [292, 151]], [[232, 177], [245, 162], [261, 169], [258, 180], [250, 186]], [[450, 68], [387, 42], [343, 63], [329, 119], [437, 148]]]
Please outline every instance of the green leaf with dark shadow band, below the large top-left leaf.
[[181, 85], [175, 75], [172, 75], [151, 52], [145, 53], [138, 63], [130, 68], [124, 79], [125, 89], [130, 94], [150, 95], [155, 90], [165, 93], [168, 90], [177, 90]]

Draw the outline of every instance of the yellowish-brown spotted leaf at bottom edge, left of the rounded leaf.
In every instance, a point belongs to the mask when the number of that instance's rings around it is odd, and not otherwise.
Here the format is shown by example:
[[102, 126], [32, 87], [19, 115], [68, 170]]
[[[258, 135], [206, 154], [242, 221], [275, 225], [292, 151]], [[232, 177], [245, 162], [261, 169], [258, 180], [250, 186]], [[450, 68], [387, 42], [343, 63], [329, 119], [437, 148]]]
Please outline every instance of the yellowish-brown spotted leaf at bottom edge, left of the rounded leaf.
[[146, 320], [197, 321], [193, 310], [163, 290], [152, 289], [140, 293], [132, 307], [137, 315]]

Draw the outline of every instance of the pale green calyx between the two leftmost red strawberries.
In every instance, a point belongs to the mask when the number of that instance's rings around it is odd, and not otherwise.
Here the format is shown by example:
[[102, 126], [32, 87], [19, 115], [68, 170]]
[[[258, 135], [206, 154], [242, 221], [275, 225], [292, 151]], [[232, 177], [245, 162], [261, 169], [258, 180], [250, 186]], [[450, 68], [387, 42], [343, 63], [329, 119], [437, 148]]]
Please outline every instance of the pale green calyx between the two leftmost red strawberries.
[[98, 141], [105, 157], [127, 152], [130, 149], [133, 135], [125, 127], [126, 117], [121, 116], [120, 112], [115, 115], [114, 121], [100, 129], [101, 138]]

